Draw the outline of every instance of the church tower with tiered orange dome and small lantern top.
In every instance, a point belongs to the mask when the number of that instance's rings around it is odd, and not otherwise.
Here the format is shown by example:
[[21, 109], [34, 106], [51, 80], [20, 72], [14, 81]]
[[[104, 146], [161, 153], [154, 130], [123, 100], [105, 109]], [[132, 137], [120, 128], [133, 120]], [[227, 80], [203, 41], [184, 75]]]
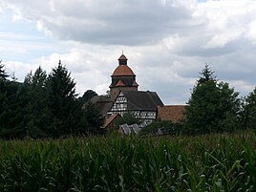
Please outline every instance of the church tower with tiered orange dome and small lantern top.
[[136, 82], [136, 75], [127, 66], [127, 58], [121, 54], [118, 58], [119, 65], [111, 75], [110, 87], [111, 100], [115, 100], [119, 91], [138, 91], [139, 84]]

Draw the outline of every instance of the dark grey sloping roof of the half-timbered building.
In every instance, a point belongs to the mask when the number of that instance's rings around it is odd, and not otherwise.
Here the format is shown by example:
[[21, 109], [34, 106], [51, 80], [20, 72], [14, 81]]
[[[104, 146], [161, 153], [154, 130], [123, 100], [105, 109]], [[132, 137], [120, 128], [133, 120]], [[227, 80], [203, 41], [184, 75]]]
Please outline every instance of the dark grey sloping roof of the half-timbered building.
[[128, 102], [128, 110], [157, 111], [163, 106], [156, 92], [122, 91]]

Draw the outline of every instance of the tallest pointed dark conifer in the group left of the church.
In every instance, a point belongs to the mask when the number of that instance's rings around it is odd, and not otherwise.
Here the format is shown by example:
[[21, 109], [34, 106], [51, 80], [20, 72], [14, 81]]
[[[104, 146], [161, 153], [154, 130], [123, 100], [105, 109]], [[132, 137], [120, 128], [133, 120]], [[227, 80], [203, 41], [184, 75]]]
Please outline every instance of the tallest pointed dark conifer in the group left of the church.
[[72, 134], [75, 130], [74, 114], [79, 105], [75, 102], [75, 82], [60, 63], [47, 80], [49, 108], [53, 114], [53, 137]]

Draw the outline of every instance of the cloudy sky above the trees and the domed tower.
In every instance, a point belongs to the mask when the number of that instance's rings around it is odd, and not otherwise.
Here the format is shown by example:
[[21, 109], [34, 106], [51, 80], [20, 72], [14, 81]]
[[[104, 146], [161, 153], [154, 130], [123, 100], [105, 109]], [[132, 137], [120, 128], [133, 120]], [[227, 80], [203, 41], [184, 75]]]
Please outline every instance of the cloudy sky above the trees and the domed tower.
[[207, 63], [247, 96], [256, 83], [255, 0], [0, 0], [0, 60], [20, 82], [59, 60], [76, 93], [109, 89], [124, 53], [140, 91], [185, 104]]

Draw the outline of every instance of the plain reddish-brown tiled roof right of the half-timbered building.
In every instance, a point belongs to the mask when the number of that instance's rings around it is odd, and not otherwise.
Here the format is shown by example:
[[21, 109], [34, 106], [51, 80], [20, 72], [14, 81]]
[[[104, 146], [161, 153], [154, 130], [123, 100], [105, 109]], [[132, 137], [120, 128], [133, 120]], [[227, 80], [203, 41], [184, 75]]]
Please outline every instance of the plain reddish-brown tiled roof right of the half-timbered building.
[[167, 105], [158, 107], [158, 119], [178, 122], [184, 117], [185, 105]]

